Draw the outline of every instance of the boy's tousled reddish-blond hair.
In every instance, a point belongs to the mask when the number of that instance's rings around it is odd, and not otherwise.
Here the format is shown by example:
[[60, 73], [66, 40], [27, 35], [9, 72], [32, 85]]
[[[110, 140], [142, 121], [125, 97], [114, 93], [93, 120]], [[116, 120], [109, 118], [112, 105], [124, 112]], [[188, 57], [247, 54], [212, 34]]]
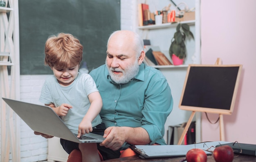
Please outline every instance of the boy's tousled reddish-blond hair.
[[49, 67], [74, 67], [83, 58], [83, 46], [72, 34], [50, 36], [45, 43], [45, 65]]

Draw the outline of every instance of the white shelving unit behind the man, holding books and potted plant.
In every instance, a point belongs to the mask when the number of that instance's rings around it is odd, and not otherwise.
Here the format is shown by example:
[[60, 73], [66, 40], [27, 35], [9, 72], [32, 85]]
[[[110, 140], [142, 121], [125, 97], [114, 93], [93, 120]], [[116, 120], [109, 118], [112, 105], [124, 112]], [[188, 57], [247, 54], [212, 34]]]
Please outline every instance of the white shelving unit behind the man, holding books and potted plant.
[[[186, 1], [186, 0], [185, 0]], [[188, 1], [192, 3], [191, 1]], [[137, 0], [137, 3], [143, 3], [141, 0]], [[165, 3], [165, 4], [164, 4]], [[168, 6], [171, 1], [168, 0], [148, 0], [147, 4], [150, 6], [154, 6], [152, 8], [157, 8], [161, 10], [163, 6]], [[187, 122], [191, 112], [183, 111], [178, 108], [178, 104], [180, 102], [180, 95], [183, 89], [184, 80], [186, 76], [186, 70], [188, 64], [200, 64], [201, 57], [200, 57], [200, 0], [194, 1], [195, 7], [195, 20], [190, 21], [182, 21], [180, 23], [186, 23], [190, 26], [190, 30], [194, 35], [194, 40], [187, 40], [186, 41], [186, 48], [187, 48], [187, 57], [184, 60], [184, 64], [182, 65], [157, 65], [152, 66], [159, 69], [166, 77], [168, 84], [171, 87], [172, 95], [173, 95], [173, 111], [168, 116], [165, 130], [168, 130], [169, 125], [176, 125], [181, 124], [183, 122]], [[151, 9], [152, 9], [151, 8]], [[153, 12], [151, 10], [151, 12]], [[171, 45], [171, 39], [173, 38], [173, 34], [176, 31], [177, 22], [173, 23], [164, 23], [159, 25], [147, 25], [137, 27], [137, 32], [143, 39], [149, 39], [151, 45], [159, 46], [162, 53], [166, 55], [166, 57], [171, 60], [169, 55], [169, 47]], [[201, 113], [197, 113], [195, 120], [196, 120], [196, 142], [201, 141]], [[165, 134], [165, 139], [167, 135]]]

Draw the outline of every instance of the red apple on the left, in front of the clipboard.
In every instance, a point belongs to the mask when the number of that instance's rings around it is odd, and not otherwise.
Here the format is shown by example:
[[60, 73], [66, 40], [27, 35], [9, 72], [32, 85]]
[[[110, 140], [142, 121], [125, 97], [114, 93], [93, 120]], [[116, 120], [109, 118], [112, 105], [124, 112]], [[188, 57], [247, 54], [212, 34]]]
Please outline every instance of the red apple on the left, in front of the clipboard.
[[207, 155], [202, 149], [191, 149], [186, 153], [187, 162], [206, 162]]

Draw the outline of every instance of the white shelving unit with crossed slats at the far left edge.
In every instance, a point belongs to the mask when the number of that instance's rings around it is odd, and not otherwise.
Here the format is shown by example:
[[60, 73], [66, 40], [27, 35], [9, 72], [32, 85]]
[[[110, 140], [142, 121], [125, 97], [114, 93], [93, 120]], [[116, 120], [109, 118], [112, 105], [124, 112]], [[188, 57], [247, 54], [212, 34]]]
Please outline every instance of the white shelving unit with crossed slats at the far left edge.
[[1, 162], [18, 162], [20, 118], [2, 100], [20, 96], [18, 0], [6, 0], [6, 4], [0, 7]]

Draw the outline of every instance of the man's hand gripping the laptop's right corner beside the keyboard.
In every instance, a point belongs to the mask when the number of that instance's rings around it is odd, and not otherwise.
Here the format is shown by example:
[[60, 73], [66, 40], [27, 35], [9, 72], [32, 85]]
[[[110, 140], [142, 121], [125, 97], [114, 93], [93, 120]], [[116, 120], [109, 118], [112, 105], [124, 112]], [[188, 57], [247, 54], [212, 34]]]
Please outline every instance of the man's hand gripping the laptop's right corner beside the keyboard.
[[126, 141], [127, 127], [110, 126], [104, 131], [103, 137], [106, 138], [100, 146], [105, 146], [114, 151], [118, 150]]

